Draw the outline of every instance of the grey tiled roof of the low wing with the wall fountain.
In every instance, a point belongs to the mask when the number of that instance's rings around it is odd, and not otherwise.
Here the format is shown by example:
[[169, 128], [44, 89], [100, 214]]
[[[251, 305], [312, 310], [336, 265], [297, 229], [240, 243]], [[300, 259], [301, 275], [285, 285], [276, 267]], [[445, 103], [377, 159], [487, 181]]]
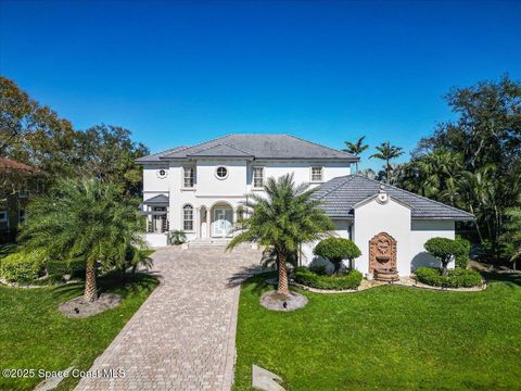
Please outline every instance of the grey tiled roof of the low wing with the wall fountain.
[[391, 199], [409, 206], [411, 217], [415, 219], [472, 220], [475, 218], [471, 213], [411, 193], [395, 186], [366, 178], [361, 175], [333, 178], [317, 189], [315, 198], [322, 201], [320, 207], [329, 216], [353, 218], [356, 204], [373, 198], [380, 190], [385, 191]]

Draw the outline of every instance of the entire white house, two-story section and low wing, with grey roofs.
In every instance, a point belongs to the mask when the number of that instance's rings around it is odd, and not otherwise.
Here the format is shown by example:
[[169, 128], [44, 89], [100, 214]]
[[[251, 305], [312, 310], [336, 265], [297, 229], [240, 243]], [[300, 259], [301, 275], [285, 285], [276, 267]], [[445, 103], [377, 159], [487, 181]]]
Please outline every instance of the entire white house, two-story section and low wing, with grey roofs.
[[[289, 135], [228, 135], [139, 159], [143, 165], [142, 213], [151, 247], [166, 245], [166, 232], [182, 230], [189, 243], [224, 243], [242, 218], [247, 194], [264, 193], [267, 178], [294, 174], [296, 184], [317, 188], [314, 197], [333, 220], [331, 235], [361, 250], [355, 267], [371, 275], [395, 269], [407, 276], [436, 266], [423, 250], [433, 237], [455, 237], [465, 211], [359, 175], [358, 157]], [[303, 264], [327, 263], [303, 243]]]

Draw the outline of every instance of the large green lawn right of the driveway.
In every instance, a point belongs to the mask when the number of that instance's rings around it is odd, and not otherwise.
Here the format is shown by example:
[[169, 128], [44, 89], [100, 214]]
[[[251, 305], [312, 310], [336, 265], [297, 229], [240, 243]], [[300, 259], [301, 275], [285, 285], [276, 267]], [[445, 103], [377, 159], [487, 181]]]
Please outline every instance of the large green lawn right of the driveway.
[[519, 390], [521, 277], [488, 279], [483, 292], [306, 292], [305, 308], [275, 313], [253, 277], [241, 292], [234, 389], [251, 389], [256, 364], [290, 390]]

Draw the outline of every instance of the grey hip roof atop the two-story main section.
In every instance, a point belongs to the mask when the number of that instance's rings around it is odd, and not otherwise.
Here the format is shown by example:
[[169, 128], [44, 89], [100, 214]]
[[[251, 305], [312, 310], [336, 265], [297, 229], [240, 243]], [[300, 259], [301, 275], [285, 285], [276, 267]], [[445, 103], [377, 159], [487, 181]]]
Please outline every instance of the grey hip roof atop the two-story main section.
[[[154, 160], [151, 160], [153, 156]], [[340, 160], [357, 162], [359, 157], [306, 141], [291, 135], [228, 135], [193, 147], [177, 148], [137, 160], [150, 161], [190, 157], [245, 157], [268, 160]]]

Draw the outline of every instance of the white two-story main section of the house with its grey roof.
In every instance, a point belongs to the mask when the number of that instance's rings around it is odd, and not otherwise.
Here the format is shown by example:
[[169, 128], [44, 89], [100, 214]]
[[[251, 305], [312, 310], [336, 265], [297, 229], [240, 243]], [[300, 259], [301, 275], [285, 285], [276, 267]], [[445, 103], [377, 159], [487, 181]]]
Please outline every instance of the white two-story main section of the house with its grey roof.
[[164, 245], [168, 230], [183, 230], [189, 241], [227, 238], [241, 201], [262, 192], [266, 178], [294, 173], [297, 184], [316, 187], [350, 175], [357, 160], [289, 135], [228, 135], [141, 157], [147, 240]]

